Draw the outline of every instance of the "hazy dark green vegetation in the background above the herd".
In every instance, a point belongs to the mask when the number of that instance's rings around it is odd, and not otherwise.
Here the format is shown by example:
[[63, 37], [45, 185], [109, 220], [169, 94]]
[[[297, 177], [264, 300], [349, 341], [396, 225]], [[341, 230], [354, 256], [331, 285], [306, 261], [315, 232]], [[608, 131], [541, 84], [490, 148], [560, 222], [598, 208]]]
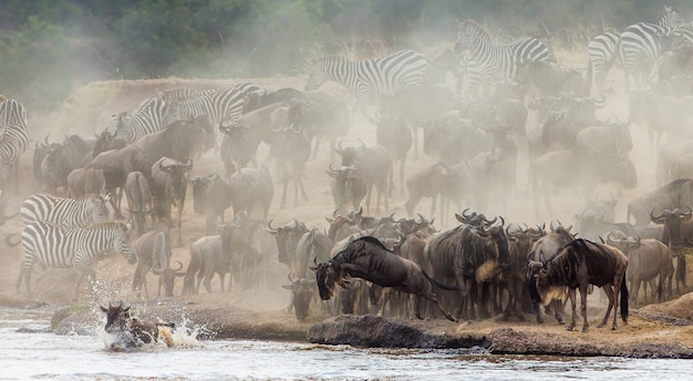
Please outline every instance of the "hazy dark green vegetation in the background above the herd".
[[7, 0], [0, 93], [49, 111], [93, 81], [294, 74], [314, 54], [452, 44], [456, 20], [466, 18], [499, 35], [542, 34], [570, 48], [663, 8], [649, 0]]

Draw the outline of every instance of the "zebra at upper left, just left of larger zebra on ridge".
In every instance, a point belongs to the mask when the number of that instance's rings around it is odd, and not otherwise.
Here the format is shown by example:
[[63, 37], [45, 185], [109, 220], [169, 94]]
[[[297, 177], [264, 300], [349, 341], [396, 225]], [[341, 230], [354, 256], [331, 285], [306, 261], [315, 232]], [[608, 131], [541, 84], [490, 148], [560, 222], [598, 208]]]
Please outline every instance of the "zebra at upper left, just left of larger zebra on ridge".
[[139, 137], [161, 131], [168, 124], [168, 106], [159, 97], [144, 100], [132, 114], [121, 113], [113, 115], [115, 131], [127, 143], [134, 143]]

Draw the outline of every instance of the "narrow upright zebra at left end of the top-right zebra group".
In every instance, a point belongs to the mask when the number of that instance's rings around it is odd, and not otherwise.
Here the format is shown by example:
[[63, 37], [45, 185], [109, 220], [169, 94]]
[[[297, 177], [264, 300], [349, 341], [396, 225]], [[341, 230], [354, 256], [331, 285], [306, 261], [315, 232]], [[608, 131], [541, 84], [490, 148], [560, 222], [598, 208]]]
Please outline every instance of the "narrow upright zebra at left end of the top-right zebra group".
[[589, 90], [591, 90], [592, 82], [594, 82], [599, 94], [603, 94], [604, 80], [619, 55], [617, 50], [621, 34], [619, 33], [604, 32], [593, 38], [587, 45], [589, 55], [587, 81]]

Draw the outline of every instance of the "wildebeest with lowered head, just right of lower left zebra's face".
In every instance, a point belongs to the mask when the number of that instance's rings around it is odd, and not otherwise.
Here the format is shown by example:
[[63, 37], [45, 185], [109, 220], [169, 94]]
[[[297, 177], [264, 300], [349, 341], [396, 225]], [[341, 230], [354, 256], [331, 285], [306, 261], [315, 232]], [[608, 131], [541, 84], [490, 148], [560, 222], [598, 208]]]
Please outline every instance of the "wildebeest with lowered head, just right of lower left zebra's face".
[[182, 277], [183, 264], [178, 261], [178, 268], [170, 268], [170, 238], [163, 230], [149, 231], [142, 235], [133, 243], [137, 253], [137, 267], [133, 276], [133, 291], [144, 288], [145, 298], [149, 297], [147, 290], [147, 272], [157, 275], [158, 290], [156, 297], [162, 296], [164, 288], [165, 297], [173, 297], [174, 282], [176, 277]]

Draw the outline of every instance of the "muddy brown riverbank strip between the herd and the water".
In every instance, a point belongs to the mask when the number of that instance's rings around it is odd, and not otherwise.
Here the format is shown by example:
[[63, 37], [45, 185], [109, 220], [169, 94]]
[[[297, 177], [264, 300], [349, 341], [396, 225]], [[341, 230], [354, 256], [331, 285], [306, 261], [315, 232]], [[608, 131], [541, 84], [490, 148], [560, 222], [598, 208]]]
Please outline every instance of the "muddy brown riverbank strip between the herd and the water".
[[[267, 298], [267, 296], [262, 296]], [[547, 319], [537, 325], [488, 319], [455, 323], [447, 320], [402, 320], [375, 316], [312, 316], [299, 322], [283, 309], [248, 308], [249, 297], [211, 294], [166, 298], [133, 303], [141, 318], [174, 321], [178, 327], [198, 328], [201, 339], [252, 339], [350, 344], [379, 348], [482, 348], [492, 354], [551, 354], [573, 357], [628, 357], [693, 359], [693, 322], [666, 315], [685, 310], [689, 294], [662, 305], [633, 310], [628, 325], [597, 328], [602, 311], [590, 310], [589, 332], [566, 331]], [[0, 300], [8, 303], [10, 300]], [[11, 301], [14, 307], [21, 302]], [[34, 308], [35, 305], [27, 305]], [[97, 307], [69, 306], [56, 310], [52, 326], [56, 334], [94, 334], [103, 325]], [[580, 328], [581, 322], [578, 325]]]

